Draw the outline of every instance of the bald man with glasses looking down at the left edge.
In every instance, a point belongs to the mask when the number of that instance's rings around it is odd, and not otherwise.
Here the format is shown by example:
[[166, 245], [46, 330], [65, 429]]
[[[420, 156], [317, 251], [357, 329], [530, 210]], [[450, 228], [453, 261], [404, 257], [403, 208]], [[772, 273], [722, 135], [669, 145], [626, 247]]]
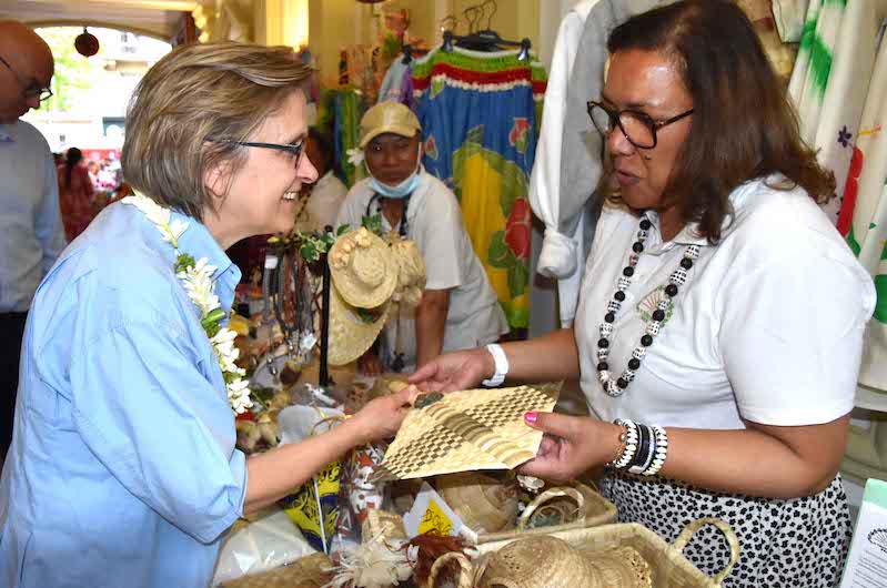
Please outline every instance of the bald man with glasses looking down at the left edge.
[[28, 308], [65, 245], [52, 153], [19, 120], [52, 95], [53, 71], [52, 52], [33, 30], [0, 21], [0, 460], [12, 438]]

